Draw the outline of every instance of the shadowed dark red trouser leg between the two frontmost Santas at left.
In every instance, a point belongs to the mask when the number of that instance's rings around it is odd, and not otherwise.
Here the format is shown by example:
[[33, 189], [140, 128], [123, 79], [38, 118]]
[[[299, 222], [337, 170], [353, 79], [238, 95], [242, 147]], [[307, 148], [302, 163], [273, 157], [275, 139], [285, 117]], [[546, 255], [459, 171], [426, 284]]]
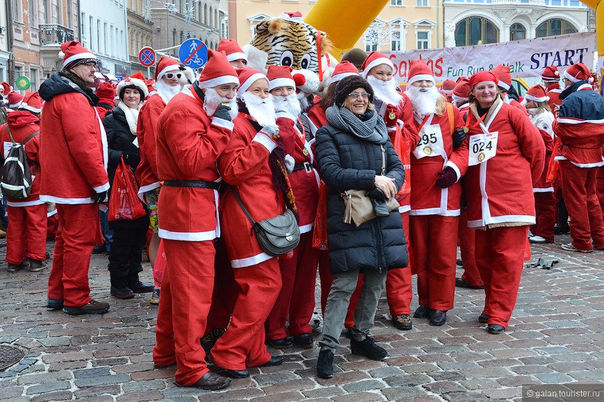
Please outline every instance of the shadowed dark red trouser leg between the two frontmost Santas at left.
[[233, 278], [233, 268], [226, 254], [224, 238], [216, 239], [214, 246], [216, 256], [214, 261], [214, 292], [212, 292], [212, 305], [208, 314], [208, 324], [205, 333], [208, 335], [214, 328], [225, 329], [230, 322], [230, 313], [235, 306], [239, 287]]

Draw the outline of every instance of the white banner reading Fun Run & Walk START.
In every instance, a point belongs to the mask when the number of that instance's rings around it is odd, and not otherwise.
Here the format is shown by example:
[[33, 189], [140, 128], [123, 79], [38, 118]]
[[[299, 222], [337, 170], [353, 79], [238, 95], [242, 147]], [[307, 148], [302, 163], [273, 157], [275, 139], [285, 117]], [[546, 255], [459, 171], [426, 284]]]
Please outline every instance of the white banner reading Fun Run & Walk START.
[[571, 33], [537, 39], [443, 49], [384, 52], [394, 64], [394, 76], [407, 82], [411, 60], [426, 60], [437, 82], [469, 77], [490, 71], [498, 64], [510, 66], [512, 78], [539, 77], [547, 66], [555, 65], [560, 75], [567, 67], [583, 63], [594, 66], [596, 33]]

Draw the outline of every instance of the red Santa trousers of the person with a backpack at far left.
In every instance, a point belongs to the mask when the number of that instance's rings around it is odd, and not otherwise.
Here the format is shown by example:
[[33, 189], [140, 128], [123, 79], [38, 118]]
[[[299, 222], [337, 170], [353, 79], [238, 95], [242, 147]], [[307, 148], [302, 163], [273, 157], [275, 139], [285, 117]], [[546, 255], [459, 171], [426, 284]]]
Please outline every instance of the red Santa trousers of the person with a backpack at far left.
[[46, 204], [28, 207], [6, 207], [6, 262], [19, 265], [24, 258], [46, 259]]

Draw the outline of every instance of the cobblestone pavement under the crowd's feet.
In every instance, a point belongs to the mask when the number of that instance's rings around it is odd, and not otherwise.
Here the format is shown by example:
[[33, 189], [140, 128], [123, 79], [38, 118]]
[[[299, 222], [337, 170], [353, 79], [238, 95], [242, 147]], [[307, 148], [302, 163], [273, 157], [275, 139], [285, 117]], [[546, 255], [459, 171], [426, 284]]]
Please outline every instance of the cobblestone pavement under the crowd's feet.
[[[458, 289], [444, 326], [414, 319], [411, 331], [394, 329], [383, 297], [373, 330], [389, 353], [382, 362], [351, 355], [342, 337], [335, 376], [326, 380], [315, 376], [316, 346], [269, 348], [285, 358], [283, 365], [251, 369], [251, 378], [233, 380], [219, 392], [176, 387], [174, 369], [153, 369], [157, 308], [149, 304], [150, 293], [110, 297], [106, 256], [93, 256], [90, 268], [92, 297], [111, 304], [104, 315], [47, 311], [49, 270], [9, 273], [2, 265], [0, 344], [26, 356], [0, 372], [0, 399], [519, 401], [522, 384], [602, 382], [604, 252], [564, 252], [560, 244], [569, 236], [556, 240], [532, 245], [531, 262], [542, 257], [560, 263], [551, 270], [525, 268], [514, 315], [501, 335], [487, 333], [477, 321], [482, 290]], [[3, 261], [6, 242], [0, 247]], [[142, 279], [151, 281], [149, 265]]]

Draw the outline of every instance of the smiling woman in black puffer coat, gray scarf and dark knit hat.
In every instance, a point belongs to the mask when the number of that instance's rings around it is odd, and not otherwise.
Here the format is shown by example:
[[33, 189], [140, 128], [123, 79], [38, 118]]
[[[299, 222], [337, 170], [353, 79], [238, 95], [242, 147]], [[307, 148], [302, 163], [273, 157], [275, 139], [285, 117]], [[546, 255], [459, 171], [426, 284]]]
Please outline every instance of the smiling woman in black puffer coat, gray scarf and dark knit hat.
[[[383, 119], [372, 105], [374, 91], [360, 76], [338, 82], [335, 104], [326, 110], [328, 125], [317, 131], [315, 153], [321, 178], [329, 187], [327, 235], [330, 271], [334, 275], [324, 315], [317, 375], [333, 376], [333, 352], [358, 275], [364, 283], [355, 310], [351, 351], [374, 360], [387, 356], [369, 337], [385, 286], [387, 271], [407, 266], [407, 246], [398, 210], [355, 227], [344, 223], [341, 192], [371, 191], [371, 198], [392, 198], [405, 180], [405, 170], [389, 140]], [[382, 173], [385, 148], [385, 175]], [[385, 205], [382, 203], [383, 207]], [[386, 209], [387, 213], [387, 209]]]

